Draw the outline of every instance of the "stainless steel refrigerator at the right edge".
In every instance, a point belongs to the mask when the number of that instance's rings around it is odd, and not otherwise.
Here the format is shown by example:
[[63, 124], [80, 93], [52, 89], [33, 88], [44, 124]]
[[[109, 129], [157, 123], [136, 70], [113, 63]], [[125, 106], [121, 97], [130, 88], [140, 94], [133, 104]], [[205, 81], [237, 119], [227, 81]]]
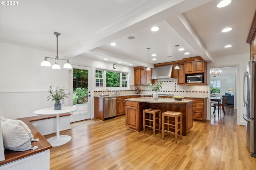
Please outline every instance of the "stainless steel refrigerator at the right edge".
[[244, 72], [243, 98], [246, 113], [243, 115], [246, 120], [246, 145], [250, 155], [256, 157], [256, 112], [255, 112], [255, 61], [246, 64]]

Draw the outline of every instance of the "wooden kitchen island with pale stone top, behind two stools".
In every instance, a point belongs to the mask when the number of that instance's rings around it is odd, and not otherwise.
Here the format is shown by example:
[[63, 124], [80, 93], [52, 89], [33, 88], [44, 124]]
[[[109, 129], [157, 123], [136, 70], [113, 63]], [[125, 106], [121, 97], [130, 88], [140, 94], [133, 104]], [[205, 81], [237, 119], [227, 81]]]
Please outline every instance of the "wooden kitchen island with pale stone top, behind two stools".
[[193, 100], [181, 101], [171, 98], [130, 98], [126, 101], [126, 126], [140, 132], [143, 130], [143, 109], [153, 108], [182, 112], [182, 135], [186, 136], [193, 127]]

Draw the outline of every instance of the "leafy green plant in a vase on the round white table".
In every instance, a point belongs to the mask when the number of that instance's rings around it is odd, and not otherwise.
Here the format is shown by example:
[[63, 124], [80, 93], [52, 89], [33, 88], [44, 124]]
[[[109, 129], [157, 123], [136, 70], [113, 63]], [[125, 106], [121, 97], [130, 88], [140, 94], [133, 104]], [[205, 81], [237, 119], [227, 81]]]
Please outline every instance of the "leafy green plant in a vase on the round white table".
[[64, 104], [64, 98], [68, 98], [68, 93], [65, 93], [65, 89], [63, 88], [56, 88], [55, 92], [52, 91], [52, 86], [50, 86], [50, 90], [48, 91], [50, 93], [50, 95], [47, 97], [49, 101], [50, 99], [52, 101], [55, 101], [54, 104], [54, 110], [60, 110], [61, 109], [61, 100], [62, 100], [62, 104]]

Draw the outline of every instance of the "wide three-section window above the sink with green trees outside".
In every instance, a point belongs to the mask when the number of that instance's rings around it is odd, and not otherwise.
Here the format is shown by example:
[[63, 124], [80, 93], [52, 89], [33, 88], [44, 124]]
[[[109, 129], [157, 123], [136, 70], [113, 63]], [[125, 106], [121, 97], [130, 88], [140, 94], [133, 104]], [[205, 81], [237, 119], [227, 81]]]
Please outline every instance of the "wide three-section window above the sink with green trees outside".
[[128, 89], [128, 73], [96, 69], [95, 86], [99, 89]]

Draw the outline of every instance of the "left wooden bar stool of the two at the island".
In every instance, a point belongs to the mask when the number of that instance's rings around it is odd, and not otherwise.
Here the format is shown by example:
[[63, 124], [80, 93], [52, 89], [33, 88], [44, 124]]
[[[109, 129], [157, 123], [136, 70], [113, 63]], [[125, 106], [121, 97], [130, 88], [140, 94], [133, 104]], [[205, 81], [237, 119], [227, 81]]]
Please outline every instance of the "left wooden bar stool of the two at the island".
[[153, 136], [155, 137], [156, 126], [161, 133], [161, 110], [160, 109], [144, 109], [143, 110], [143, 133], [146, 127], [153, 128]]

